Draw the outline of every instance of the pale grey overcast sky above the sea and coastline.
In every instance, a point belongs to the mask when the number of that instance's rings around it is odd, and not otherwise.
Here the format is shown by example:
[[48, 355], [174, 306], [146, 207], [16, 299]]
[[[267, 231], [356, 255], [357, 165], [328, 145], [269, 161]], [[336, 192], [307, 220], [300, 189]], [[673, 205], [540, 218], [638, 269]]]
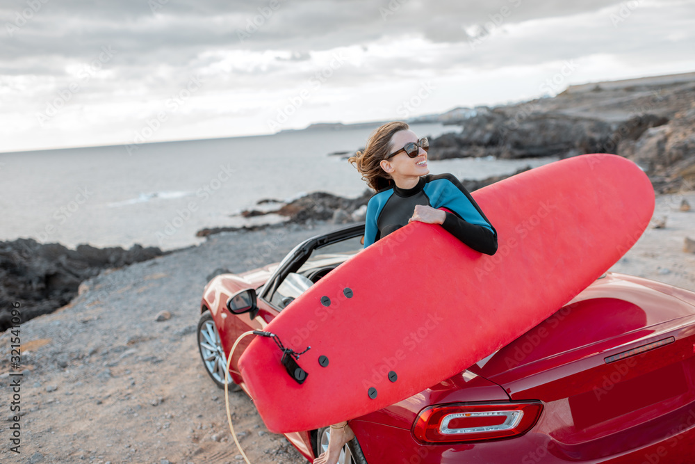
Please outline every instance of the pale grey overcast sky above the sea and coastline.
[[0, 152], [271, 134], [695, 71], [695, 0], [0, 0]]

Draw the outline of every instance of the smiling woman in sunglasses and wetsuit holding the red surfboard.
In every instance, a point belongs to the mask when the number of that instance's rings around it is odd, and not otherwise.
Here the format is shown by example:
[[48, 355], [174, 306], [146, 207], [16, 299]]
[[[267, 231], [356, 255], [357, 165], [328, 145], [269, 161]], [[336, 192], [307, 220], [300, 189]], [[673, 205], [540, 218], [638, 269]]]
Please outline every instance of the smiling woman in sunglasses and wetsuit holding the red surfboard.
[[[365, 248], [410, 221], [420, 221], [441, 224], [474, 250], [494, 255], [495, 228], [456, 177], [430, 175], [429, 147], [427, 138], [418, 140], [405, 122], [388, 122], [373, 132], [363, 152], [350, 158], [377, 192], [367, 205]], [[352, 438], [347, 422], [332, 425], [328, 450], [314, 464], [337, 463], [341, 449]]]

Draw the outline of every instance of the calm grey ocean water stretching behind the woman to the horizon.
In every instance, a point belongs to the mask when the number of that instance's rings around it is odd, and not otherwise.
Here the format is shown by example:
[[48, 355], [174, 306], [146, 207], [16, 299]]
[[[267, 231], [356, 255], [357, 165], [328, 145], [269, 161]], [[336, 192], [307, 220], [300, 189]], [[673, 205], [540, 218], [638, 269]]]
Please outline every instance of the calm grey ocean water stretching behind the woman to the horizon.
[[[412, 125], [419, 136], [456, 127]], [[151, 143], [0, 154], [0, 240], [32, 237], [74, 247], [170, 250], [199, 243], [204, 227], [277, 222], [245, 219], [266, 198], [291, 200], [313, 191], [357, 197], [366, 190], [334, 152], [363, 147], [373, 128], [314, 129], [272, 136]], [[553, 159], [430, 161], [431, 173], [482, 179]], [[272, 208], [266, 205], [265, 208]], [[275, 205], [277, 206], [277, 205]]]

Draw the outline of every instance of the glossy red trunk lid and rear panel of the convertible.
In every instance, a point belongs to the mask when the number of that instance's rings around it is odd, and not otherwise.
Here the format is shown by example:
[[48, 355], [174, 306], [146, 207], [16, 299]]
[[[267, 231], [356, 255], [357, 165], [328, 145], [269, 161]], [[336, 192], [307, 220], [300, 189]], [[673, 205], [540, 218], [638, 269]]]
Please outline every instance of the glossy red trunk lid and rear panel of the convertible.
[[531, 433], [569, 461], [612, 456], [695, 424], [692, 305], [608, 275], [471, 370], [545, 404]]

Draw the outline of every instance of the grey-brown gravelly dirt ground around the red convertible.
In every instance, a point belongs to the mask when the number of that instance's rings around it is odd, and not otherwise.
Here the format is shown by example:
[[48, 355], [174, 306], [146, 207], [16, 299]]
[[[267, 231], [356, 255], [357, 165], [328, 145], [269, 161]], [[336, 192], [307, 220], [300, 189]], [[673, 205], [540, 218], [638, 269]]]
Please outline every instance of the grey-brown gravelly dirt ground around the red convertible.
[[[685, 198], [693, 211], [678, 210]], [[649, 228], [612, 271], [695, 291], [695, 193], [657, 199]], [[22, 324], [21, 454], [10, 451], [9, 362], [0, 367], [2, 463], [238, 463], [224, 392], [208, 378], [195, 342], [206, 276], [281, 259], [306, 237], [334, 230], [286, 227], [217, 234], [172, 255], [102, 273], [54, 314]], [[156, 321], [162, 310], [171, 319]], [[10, 333], [0, 351], [10, 357]], [[231, 394], [241, 445], [253, 463], [306, 462], [268, 433], [251, 401]]]

